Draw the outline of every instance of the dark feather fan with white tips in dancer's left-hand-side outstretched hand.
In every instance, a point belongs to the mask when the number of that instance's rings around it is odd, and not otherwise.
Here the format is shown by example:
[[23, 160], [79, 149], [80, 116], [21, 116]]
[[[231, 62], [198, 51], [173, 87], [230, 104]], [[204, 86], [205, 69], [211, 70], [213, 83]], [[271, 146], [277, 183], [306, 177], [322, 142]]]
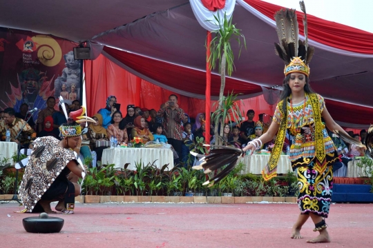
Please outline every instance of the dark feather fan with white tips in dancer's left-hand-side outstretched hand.
[[[192, 167], [193, 169], [205, 169], [205, 174], [212, 172], [216, 169], [220, 169], [224, 165], [227, 165], [221, 172], [216, 176], [207, 180], [203, 185], [209, 184], [211, 187], [214, 183], [218, 183], [222, 178], [227, 176], [229, 172], [236, 166], [238, 158], [243, 154], [242, 149], [237, 149], [235, 147], [226, 147], [223, 145], [211, 145], [214, 148], [211, 149], [210, 154], [202, 158], [202, 163], [199, 166]], [[202, 167], [202, 168], [201, 168]], [[212, 182], [212, 183], [211, 183]]]

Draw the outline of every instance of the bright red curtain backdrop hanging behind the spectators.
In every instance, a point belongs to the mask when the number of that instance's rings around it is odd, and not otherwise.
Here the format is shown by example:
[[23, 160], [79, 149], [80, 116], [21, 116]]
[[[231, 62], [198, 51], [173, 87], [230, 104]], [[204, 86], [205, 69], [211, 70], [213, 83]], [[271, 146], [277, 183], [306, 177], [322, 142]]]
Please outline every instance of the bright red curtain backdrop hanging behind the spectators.
[[[117, 97], [121, 103], [121, 111], [126, 114], [126, 105], [134, 104], [147, 107], [149, 110], [160, 109], [160, 105], [167, 101], [170, 94], [175, 94], [162, 87], [149, 83], [127, 72], [123, 68], [100, 55], [94, 61], [84, 61], [86, 74], [86, 103], [88, 116], [93, 116], [106, 104], [106, 98], [111, 95]], [[188, 96], [178, 96], [180, 107], [191, 117], [205, 111], [206, 101]], [[214, 101], [211, 101], [211, 111], [214, 110]], [[265, 102], [263, 96], [245, 99], [240, 103], [241, 110], [246, 116], [247, 110], [253, 109], [257, 114], [273, 114], [274, 107]], [[257, 117], [256, 117], [257, 119]]]

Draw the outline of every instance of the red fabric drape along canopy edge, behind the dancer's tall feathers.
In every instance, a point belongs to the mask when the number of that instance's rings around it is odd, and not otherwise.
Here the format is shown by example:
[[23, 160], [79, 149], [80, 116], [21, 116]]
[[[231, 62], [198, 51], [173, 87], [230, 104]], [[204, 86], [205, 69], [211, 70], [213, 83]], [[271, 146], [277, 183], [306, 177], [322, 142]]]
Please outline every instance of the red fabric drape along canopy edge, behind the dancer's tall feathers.
[[[244, 0], [249, 6], [265, 14], [274, 20], [274, 14], [281, 6], [276, 6], [265, 1]], [[306, 6], [307, 7], [307, 6]], [[296, 12], [298, 17], [299, 32], [303, 34], [303, 12]], [[329, 45], [333, 48], [357, 52], [362, 54], [373, 54], [373, 34], [352, 28], [347, 25], [326, 21], [307, 14], [308, 37], [313, 41]]]

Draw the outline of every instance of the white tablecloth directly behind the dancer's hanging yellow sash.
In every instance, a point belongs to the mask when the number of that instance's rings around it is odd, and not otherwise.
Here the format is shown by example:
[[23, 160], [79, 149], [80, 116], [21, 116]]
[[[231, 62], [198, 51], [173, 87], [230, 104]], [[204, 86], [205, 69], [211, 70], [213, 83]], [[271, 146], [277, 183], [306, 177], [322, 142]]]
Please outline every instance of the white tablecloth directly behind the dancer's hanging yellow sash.
[[[242, 174], [262, 174], [262, 169], [264, 169], [265, 165], [267, 165], [269, 161], [269, 155], [246, 155], [245, 157], [240, 158], [238, 163], [240, 161], [246, 165], [242, 171]], [[277, 174], [286, 174], [288, 169], [292, 171], [289, 156], [281, 155], [278, 159]]]

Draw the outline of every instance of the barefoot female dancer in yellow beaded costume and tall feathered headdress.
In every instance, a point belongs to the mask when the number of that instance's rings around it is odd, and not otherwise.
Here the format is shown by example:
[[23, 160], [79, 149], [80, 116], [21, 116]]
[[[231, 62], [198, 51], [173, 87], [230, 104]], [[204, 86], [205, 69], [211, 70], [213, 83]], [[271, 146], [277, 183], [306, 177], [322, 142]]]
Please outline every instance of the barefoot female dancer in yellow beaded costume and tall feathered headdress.
[[[304, 5], [302, 7], [305, 12]], [[347, 133], [334, 122], [323, 97], [314, 93], [309, 86], [308, 65], [314, 49], [307, 47], [307, 37], [304, 43], [298, 41], [295, 10], [280, 10], [276, 13], [275, 19], [280, 39], [280, 44], [275, 43], [276, 51], [285, 61], [284, 90], [269, 130], [260, 138], [251, 141], [243, 150], [252, 152], [263, 143], [271, 141], [278, 133], [269, 163], [262, 172], [265, 180], [269, 180], [276, 176], [278, 158], [286, 132], [289, 133], [289, 158], [291, 167], [296, 170], [300, 189], [297, 200], [300, 214], [291, 231], [291, 238], [303, 238], [300, 229], [311, 217], [315, 224], [314, 231], [319, 231], [320, 234], [307, 242], [330, 242], [324, 218], [329, 214], [332, 200], [332, 164], [338, 161], [338, 154], [325, 125], [329, 130], [345, 135]], [[287, 34], [291, 35], [286, 36]], [[325, 120], [325, 125], [321, 118]], [[363, 151], [362, 148], [359, 149], [360, 152]]]

